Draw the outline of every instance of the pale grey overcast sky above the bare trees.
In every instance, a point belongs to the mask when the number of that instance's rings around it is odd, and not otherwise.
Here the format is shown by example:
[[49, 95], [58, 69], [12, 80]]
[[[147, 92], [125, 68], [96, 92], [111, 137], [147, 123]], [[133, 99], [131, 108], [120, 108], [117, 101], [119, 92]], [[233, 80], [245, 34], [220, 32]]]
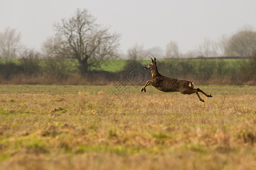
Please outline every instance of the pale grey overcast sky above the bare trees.
[[77, 8], [86, 8], [110, 32], [121, 33], [121, 53], [135, 44], [165, 50], [170, 41], [187, 53], [205, 38], [218, 41], [245, 25], [256, 28], [255, 0], [0, 0], [0, 32], [15, 28], [23, 45], [40, 50], [54, 35], [53, 24]]

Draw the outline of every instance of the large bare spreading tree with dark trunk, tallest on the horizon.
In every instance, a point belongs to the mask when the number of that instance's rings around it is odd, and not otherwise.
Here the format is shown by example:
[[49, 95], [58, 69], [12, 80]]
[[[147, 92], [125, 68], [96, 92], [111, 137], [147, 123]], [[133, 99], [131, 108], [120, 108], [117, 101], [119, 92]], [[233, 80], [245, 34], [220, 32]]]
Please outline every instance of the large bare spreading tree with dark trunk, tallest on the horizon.
[[117, 57], [121, 35], [109, 33], [108, 28], [96, 24], [86, 9], [77, 9], [74, 16], [53, 27], [56, 34], [44, 47], [55, 56], [77, 59], [82, 74], [98, 67], [102, 59]]

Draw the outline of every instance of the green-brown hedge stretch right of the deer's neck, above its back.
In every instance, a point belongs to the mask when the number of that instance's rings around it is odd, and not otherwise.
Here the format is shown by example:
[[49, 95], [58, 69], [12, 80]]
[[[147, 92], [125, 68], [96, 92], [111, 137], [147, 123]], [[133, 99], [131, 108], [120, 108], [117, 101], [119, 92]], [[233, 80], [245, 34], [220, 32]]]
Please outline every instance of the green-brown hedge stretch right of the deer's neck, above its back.
[[159, 72], [199, 84], [246, 84], [255, 82], [254, 68], [253, 59], [171, 59], [161, 62]]

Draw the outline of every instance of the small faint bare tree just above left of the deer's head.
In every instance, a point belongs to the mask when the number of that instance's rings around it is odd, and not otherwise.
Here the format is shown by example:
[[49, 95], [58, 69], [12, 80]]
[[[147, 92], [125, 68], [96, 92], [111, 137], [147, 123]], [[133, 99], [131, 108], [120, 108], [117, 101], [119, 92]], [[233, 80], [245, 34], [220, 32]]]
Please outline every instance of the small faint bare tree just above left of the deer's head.
[[143, 45], [135, 44], [127, 50], [127, 57], [133, 61], [144, 57]]

